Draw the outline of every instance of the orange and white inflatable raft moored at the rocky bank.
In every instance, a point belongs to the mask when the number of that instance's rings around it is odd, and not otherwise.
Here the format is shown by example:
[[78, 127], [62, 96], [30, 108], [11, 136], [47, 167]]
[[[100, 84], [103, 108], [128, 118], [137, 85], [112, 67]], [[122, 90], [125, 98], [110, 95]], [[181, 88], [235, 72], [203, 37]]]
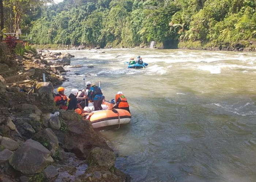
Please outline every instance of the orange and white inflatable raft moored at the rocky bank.
[[131, 121], [131, 114], [123, 109], [93, 111], [82, 115], [85, 119], [90, 120], [93, 128], [127, 124]]

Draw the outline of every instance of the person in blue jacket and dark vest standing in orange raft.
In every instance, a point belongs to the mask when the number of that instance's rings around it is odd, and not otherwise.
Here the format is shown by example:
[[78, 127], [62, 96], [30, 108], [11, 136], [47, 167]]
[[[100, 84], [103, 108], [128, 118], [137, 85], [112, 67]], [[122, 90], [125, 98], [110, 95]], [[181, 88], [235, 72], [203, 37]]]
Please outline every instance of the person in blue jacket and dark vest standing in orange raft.
[[91, 88], [88, 91], [88, 97], [93, 102], [94, 111], [102, 110], [101, 104], [105, 97], [102, 95], [101, 88], [96, 86], [95, 83], [91, 84]]

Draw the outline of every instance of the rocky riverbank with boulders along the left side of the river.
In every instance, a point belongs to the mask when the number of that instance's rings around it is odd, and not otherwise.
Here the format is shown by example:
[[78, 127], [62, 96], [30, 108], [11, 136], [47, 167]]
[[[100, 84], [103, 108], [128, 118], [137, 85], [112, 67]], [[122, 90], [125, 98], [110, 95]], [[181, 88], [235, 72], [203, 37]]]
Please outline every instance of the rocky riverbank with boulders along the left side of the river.
[[0, 181], [129, 181], [91, 123], [53, 102], [72, 55], [7, 52], [0, 45]]

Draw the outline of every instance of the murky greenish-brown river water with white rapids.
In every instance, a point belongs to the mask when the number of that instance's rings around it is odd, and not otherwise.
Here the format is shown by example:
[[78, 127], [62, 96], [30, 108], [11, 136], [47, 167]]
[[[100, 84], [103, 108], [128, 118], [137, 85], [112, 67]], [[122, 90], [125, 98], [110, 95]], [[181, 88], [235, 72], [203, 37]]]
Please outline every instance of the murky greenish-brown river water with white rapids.
[[[56, 51], [55, 51], [56, 52]], [[99, 131], [132, 182], [256, 181], [256, 53], [69, 50], [66, 95], [101, 81], [106, 99], [127, 97], [132, 119]], [[128, 69], [140, 55], [146, 69]], [[87, 66], [93, 66], [89, 68]], [[74, 75], [74, 74], [80, 75]], [[97, 84], [98, 85], [98, 84]]]

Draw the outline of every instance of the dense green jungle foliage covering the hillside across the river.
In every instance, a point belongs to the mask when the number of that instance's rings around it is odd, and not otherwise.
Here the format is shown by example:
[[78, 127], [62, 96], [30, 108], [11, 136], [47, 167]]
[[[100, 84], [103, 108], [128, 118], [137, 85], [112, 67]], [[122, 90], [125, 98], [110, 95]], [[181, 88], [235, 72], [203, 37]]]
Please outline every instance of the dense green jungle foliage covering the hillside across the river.
[[[10, 27], [14, 12], [6, 4], [5, 27]], [[256, 38], [255, 0], [64, 0], [25, 10], [20, 29], [36, 44], [103, 48], [156, 41], [177, 48], [182, 42], [246, 46]]]

